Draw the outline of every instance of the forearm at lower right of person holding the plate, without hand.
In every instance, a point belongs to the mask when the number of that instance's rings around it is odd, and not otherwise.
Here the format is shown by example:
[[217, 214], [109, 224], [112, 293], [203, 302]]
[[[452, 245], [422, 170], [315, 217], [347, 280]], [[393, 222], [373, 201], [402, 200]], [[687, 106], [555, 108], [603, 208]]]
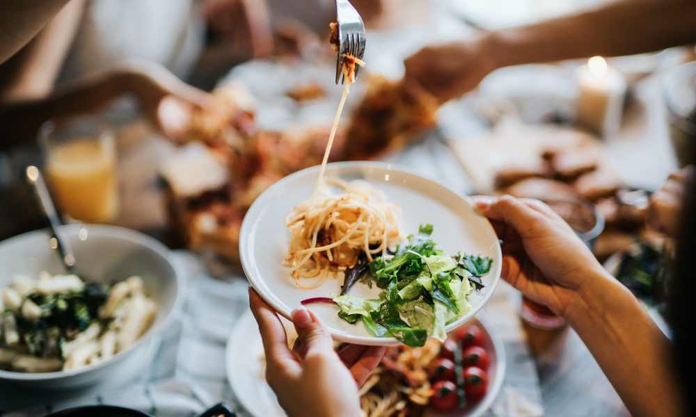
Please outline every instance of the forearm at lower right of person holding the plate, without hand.
[[587, 283], [567, 319], [628, 410], [633, 416], [680, 416], [670, 342], [613, 277], [596, 272]]

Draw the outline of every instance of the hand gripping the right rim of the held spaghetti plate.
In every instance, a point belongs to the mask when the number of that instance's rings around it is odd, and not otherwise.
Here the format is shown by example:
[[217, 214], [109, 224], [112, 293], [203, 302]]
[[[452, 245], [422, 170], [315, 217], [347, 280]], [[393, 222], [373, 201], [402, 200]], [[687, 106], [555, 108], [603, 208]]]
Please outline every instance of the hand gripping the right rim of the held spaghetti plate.
[[533, 199], [473, 197], [503, 240], [505, 281], [560, 316], [580, 302], [583, 287], [606, 276], [571, 227], [546, 204]]

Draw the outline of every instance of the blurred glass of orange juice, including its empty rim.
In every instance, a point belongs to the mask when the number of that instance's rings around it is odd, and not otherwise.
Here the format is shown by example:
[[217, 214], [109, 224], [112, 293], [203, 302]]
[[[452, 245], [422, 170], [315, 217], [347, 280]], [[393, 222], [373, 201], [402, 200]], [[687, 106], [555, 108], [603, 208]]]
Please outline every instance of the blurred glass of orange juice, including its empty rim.
[[110, 222], [118, 214], [113, 131], [98, 117], [47, 122], [40, 130], [45, 172], [63, 213], [82, 222]]

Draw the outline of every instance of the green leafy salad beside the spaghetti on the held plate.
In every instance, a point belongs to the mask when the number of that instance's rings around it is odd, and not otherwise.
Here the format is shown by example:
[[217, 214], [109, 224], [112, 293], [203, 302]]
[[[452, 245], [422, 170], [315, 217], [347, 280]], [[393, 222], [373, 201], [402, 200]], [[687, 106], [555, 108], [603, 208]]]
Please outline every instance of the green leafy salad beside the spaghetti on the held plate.
[[[484, 286], [481, 277], [493, 260], [444, 254], [432, 232], [431, 224], [421, 225], [392, 254], [347, 270], [342, 294], [331, 299], [340, 309], [338, 316], [356, 325], [362, 322], [374, 336], [393, 336], [409, 346], [422, 346], [429, 336], [444, 341], [445, 325], [470, 311], [467, 297]], [[379, 298], [349, 295], [356, 281], [382, 288]]]

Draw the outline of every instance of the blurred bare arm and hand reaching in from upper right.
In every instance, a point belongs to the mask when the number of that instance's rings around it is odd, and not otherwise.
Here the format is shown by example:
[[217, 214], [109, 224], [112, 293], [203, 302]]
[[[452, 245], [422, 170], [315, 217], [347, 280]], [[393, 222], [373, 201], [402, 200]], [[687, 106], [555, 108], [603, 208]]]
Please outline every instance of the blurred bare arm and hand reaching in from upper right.
[[406, 78], [445, 102], [503, 67], [640, 54], [694, 42], [695, 1], [606, 1], [581, 13], [425, 47], [406, 60]]

